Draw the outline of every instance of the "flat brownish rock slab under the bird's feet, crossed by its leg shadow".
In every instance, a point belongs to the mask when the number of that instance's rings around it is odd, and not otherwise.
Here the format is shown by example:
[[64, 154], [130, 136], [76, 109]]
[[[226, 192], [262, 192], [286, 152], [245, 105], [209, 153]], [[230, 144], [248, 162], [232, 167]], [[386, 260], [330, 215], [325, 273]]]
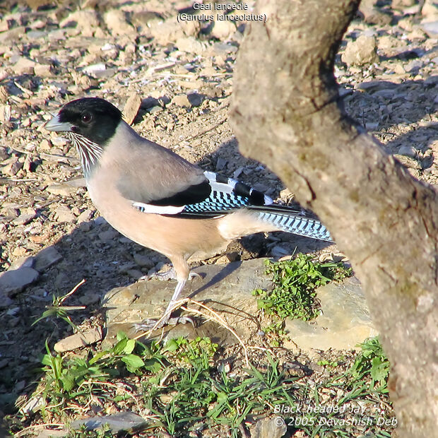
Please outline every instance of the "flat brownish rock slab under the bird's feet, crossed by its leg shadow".
[[[259, 330], [254, 318], [257, 311], [254, 289], [268, 290], [272, 282], [264, 273], [264, 259], [235, 261], [226, 266], [205, 265], [193, 270], [202, 278], [189, 280], [182, 292], [183, 297], [203, 302], [232, 326], [239, 336]], [[105, 343], [115, 342], [118, 331], [136, 336], [134, 324], [143, 319], [160, 317], [172, 297], [176, 282], [172, 280], [141, 280], [124, 288], [115, 288], [103, 298], [107, 309], [107, 336]], [[198, 308], [194, 304], [191, 307]], [[157, 336], [160, 336], [161, 330]], [[213, 321], [194, 328], [191, 324], [178, 324], [165, 328], [165, 338], [184, 336], [196, 338], [208, 336], [213, 342], [230, 345], [237, 342], [235, 336]], [[107, 344], [108, 345], [108, 344]]]

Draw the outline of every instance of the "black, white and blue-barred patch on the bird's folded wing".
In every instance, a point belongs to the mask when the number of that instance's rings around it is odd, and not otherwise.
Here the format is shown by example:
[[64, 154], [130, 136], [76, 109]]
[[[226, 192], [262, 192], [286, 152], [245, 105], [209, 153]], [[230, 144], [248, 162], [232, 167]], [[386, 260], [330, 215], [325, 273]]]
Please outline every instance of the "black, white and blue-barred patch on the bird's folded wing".
[[[179, 217], [204, 217], [211, 218], [230, 213], [246, 206], [268, 206], [273, 200], [262, 194], [260, 191], [252, 189], [242, 182], [235, 179], [223, 177], [214, 172], [203, 172], [208, 181], [209, 190], [201, 187], [201, 196], [196, 202], [181, 205], [172, 205], [174, 199], [154, 201], [153, 203], [134, 202], [133, 206], [143, 213], [157, 213], [162, 215], [177, 215]], [[205, 186], [206, 184], [204, 184]], [[196, 187], [191, 187], [191, 199], [194, 199], [193, 191]], [[176, 199], [177, 196], [174, 196]], [[199, 199], [201, 198], [201, 199]], [[188, 199], [188, 198], [187, 198]], [[167, 205], [166, 205], [167, 204]]]

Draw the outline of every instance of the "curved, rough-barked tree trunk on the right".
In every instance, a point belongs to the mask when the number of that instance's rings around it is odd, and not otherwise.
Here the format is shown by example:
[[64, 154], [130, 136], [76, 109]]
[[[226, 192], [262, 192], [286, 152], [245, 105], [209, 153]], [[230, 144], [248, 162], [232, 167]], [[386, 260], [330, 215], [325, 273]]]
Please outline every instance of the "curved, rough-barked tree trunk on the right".
[[329, 228], [362, 281], [391, 362], [401, 437], [438, 430], [438, 196], [343, 111], [333, 64], [360, 0], [259, 1], [230, 119]]

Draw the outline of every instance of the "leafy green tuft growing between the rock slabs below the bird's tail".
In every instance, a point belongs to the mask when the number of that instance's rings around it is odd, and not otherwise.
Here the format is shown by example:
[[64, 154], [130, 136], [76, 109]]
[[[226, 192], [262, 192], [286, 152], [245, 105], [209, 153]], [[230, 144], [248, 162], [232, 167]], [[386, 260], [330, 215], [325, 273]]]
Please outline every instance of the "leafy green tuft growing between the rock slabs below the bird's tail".
[[308, 254], [298, 254], [288, 261], [266, 261], [266, 273], [271, 275], [275, 287], [271, 291], [255, 290], [259, 309], [276, 314], [281, 319], [308, 321], [319, 314], [315, 289], [332, 280], [352, 275], [351, 268], [342, 263], [321, 264]]

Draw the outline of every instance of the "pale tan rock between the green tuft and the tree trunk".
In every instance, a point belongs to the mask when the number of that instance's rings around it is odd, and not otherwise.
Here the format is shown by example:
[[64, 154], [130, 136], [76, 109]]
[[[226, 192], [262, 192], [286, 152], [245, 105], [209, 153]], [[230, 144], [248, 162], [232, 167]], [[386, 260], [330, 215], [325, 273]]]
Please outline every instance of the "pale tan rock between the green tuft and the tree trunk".
[[350, 350], [366, 338], [377, 336], [357, 278], [329, 283], [316, 292], [322, 314], [313, 321], [286, 319], [285, 329], [292, 343], [285, 342], [285, 348], [295, 344], [304, 351]]

